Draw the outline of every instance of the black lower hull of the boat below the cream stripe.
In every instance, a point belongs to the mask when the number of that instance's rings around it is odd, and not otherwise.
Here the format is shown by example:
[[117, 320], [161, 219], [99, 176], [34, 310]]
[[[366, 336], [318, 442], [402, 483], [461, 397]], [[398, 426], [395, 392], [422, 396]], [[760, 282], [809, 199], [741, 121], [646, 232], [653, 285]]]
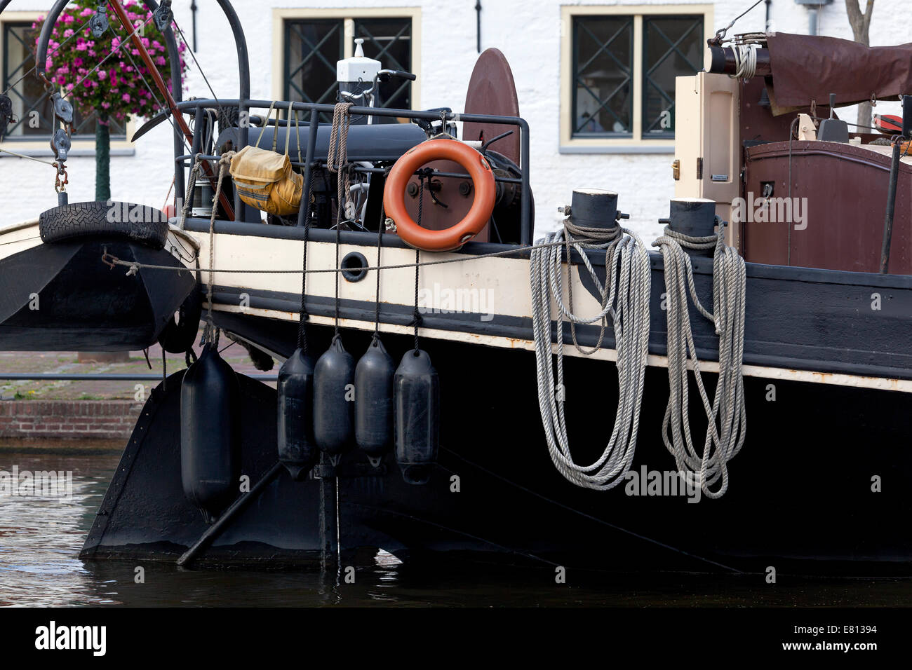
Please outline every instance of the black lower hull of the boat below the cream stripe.
[[[309, 332], [317, 351], [332, 335], [325, 327]], [[368, 339], [344, 335], [356, 357]], [[405, 335], [383, 339], [394, 358], [413, 345]], [[337, 555], [357, 564], [383, 549], [412, 562], [912, 574], [907, 394], [777, 380], [771, 399], [770, 380], [748, 377], [748, 437], [720, 500], [652, 495], [638, 479], [582, 490], [548, 455], [533, 353], [422, 342], [440, 373], [442, 407], [440, 462], [428, 484], [405, 483], [389, 454], [373, 469], [357, 449], [337, 469], [318, 465], [319, 479], [295, 482], [283, 470], [197, 562], [316, 567]], [[586, 359], [565, 366], [575, 459], [591, 461], [611, 433], [616, 370]], [[707, 378], [713, 387], [714, 376]], [[276, 460], [275, 391], [242, 382], [243, 472], [255, 483]], [[675, 469], [661, 439], [667, 371], [648, 368], [646, 389], [637, 478]], [[179, 391], [180, 376], [171, 376], [143, 410], [84, 558], [173, 561], [206, 531], [181, 491]], [[701, 411], [691, 407], [700, 443]]]

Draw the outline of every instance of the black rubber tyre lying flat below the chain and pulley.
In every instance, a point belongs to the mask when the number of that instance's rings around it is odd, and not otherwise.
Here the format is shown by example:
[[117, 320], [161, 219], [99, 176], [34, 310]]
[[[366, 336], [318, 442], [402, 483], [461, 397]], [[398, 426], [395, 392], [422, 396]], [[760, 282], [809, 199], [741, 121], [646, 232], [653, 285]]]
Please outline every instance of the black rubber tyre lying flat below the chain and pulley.
[[73, 202], [43, 211], [38, 232], [46, 243], [95, 237], [162, 249], [168, 239], [168, 216], [154, 207], [130, 202]]

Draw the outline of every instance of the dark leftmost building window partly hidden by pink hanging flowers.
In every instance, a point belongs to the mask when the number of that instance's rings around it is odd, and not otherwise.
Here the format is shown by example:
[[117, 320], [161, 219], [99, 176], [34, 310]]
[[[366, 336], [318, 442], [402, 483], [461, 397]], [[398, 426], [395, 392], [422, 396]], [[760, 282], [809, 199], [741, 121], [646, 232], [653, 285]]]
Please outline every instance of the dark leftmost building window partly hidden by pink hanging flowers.
[[[36, 77], [35, 42], [37, 28], [32, 22], [0, 23], [0, 90], [13, 102], [16, 122], [7, 128], [0, 128], [0, 139], [47, 140], [53, 123], [50, 97]], [[73, 139], [94, 139], [96, 119], [92, 113], [84, 117], [76, 111], [73, 119]], [[126, 129], [111, 119], [111, 139], [126, 139]], [[83, 137], [79, 137], [83, 136]]]

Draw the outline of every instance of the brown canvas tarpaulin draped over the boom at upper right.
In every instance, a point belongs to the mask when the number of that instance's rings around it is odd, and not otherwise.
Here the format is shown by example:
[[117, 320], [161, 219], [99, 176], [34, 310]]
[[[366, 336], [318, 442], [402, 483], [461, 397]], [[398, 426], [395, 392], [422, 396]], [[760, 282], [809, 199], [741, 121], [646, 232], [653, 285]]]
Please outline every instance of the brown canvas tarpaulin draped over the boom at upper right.
[[912, 95], [912, 44], [864, 46], [847, 39], [776, 33], [767, 36], [772, 86], [780, 107], [816, 100], [849, 105]]

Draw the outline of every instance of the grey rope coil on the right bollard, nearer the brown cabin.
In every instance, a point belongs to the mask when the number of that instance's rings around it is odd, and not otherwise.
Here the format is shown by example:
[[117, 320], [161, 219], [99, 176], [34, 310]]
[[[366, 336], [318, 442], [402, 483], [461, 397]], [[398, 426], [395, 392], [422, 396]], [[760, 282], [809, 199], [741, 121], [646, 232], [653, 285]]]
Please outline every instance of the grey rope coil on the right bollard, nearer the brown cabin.
[[[687, 472], [688, 476], [698, 480], [700, 489], [710, 498], [720, 498], [728, 490], [727, 464], [741, 450], [747, 430], [742, 376], [745, 266], [744, 259], [734, 247], [725, 245], [723, 235], [722, 225], [718, 234], [707, 237], [691, 237], [666, 226], [665, 234], [653, 242], [665, 261], [665, 287], [668, 292], [670, 392], [662, 420], [662, 440], [674, 455], [679, 471], [682, 474]], [[693, 268], [684, 249], [713, 248], [710, 314], [697, 297]], [[719, 382], [711, 406], [700, 376], [700, 360], [690, 328], [688, 292], [697, 310], [715, 325], [719, 335]], [[690, 437], [688, 359], [693, 366], [700, 399], [709, 421], [702, 453], [696, 451]], [[711, 490], [717, 483], [718, 488]]]

